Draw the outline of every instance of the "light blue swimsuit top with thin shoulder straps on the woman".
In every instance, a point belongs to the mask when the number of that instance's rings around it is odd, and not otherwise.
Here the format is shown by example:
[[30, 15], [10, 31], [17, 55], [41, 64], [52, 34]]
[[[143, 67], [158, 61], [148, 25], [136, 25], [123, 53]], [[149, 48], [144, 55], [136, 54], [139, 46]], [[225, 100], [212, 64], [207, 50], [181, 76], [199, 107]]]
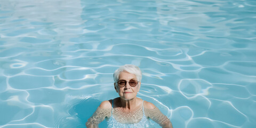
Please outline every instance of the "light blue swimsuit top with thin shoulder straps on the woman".
[[130, 127], [136, 127], [136, 128], [144, 128], [144, 127], [150, 127], [150, 121], [149, 121], [149, 118], [147, 118], [145, 116], [145, 113], [144, 113], [144, 107], [143, 107], [143, 102], [144, 100], [142, 101], [142, 110], [143, 110], [143, 116], [140, 120], [140, 122], [138, 123], [134, 123], [134, 124], [122, 124], [122, 123], [119, 123], [118, 121], [116, 121], [115, 117], [113, 116], [113, 108], [114, 108], [114, 100], [112, 100], [112, 109], [111, 109], [111, 116], [110, 118], [107, 119], [107, 124], [108, 124], [108, 127], [110, 128], [113, 128], [113, 127], [122, 127], [122, 128], [130, 128]]

